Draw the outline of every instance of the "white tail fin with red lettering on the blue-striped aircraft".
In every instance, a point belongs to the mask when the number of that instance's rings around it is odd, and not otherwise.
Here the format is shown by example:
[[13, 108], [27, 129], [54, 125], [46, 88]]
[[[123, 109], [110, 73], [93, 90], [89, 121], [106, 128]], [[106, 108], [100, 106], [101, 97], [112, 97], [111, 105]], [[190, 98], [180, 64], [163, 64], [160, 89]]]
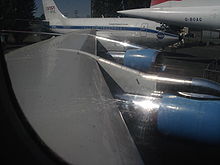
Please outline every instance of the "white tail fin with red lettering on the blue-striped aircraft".
[[50, 24], [59, 24], [66, 18], [53, 0], [42, 0], [42, 2], [46, 21]]

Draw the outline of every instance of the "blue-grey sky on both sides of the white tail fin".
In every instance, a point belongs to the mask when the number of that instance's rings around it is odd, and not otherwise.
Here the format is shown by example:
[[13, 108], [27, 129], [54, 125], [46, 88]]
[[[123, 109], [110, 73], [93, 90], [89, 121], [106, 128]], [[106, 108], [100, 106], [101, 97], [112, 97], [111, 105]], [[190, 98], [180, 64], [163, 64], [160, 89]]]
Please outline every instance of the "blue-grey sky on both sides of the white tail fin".
[[[75, 10], [78, 10], [78, 17], [90, 16], [90, 1], [91, 0], [54, 0], [60, 11], [68, 17], [75, 17]], [[35, 16], [41, 16], [43, 14], [42, 0], [35, 0], [35, 2], [37, 7]]]

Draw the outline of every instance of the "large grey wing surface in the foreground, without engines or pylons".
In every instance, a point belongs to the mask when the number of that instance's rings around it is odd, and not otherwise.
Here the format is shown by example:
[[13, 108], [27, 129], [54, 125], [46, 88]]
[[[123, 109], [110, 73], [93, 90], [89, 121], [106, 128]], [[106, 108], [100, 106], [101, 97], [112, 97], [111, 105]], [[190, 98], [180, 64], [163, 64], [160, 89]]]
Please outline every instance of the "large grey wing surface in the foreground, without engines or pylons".
[[25, 119], [68, 164], [143, 164], [99, 65], [85, 51], [95, 54], [94, 38], [72, 33], [5, 55]]

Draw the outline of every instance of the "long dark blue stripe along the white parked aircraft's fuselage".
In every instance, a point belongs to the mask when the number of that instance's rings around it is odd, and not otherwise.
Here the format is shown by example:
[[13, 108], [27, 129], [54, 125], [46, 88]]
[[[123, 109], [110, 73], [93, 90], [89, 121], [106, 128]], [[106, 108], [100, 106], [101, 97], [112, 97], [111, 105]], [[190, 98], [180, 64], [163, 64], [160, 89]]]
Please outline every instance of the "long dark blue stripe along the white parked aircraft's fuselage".
[[[97, 29], [97, 30], [120, 30], [120, 31], [140, 31], [140, 32], [148, 32], [157, 34], [160, 31], [147, 29], [147, 28], [139, 28], [139, 27], [116, 27], [116, 26], [61, 26], [61, 25], [52, 25], [49, 26], [51, 29]], [[171, 33], [164, 33], [169, 37], [178, 37], [178, 35]]]

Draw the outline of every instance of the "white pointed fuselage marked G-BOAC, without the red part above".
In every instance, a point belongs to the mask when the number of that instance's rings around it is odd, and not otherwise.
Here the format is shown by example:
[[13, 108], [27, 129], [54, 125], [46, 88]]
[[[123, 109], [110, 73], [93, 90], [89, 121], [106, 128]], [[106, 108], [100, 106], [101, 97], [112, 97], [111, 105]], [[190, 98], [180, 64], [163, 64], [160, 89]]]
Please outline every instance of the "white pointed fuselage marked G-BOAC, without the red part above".
[[171, 25], [220, 30], [220, 6], [147, 8], [119, 13]]

